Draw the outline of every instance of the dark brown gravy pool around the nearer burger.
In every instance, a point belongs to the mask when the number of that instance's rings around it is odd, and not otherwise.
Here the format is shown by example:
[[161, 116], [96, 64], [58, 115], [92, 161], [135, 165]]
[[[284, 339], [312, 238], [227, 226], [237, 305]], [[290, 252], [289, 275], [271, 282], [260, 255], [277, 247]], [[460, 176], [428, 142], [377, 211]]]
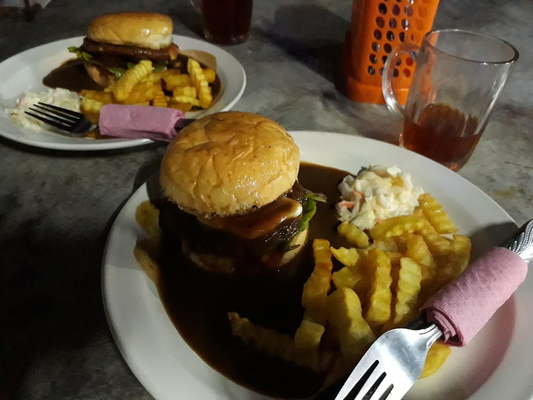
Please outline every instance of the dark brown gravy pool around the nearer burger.
[[294, 335], [302, 321], [302, 287], [313, 269], [314, 238], [346, 246], [336, 234], [337, 184], [349, 173], [302, 163], [301, 185], [327, 196], [310, 222], [308, 244], [299, 262], [264, 275], [219, 275], [190, 267], [180, 244], [163, 245], [158, 292], [167, 314], [188, 345], [225, 377], [277, 398], [305, 398], [317, 393], [324, 376], [261, 354], [231, 335], [228, 311], [265, 327]]

